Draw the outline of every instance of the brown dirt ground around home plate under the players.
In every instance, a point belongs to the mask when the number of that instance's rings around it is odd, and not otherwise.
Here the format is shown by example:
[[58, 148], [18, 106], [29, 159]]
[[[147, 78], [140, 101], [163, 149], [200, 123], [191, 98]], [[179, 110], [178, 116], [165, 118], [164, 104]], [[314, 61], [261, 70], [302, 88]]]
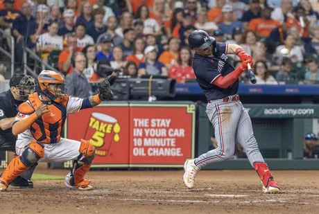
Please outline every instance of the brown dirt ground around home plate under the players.
[[[36, 170], [67, 175], [68, 170]], [[266, 195], [254, 170], [202, 170], [187, 190], [184, 171], [91, 171], [93, 191], [64, 181], [35, 181], [33, 190], [0, 193], [0, 213], [319, 213], [318, 171], [273, 171], [282, 194]]]

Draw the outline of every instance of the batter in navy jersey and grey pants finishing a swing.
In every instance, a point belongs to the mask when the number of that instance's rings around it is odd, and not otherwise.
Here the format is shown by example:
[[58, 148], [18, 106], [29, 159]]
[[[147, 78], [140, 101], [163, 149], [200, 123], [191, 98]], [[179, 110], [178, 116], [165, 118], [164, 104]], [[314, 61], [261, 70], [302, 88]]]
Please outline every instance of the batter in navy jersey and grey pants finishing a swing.
[[[193, 69], [207, 98], [206, 113], [214, 126], [218, 148], [184, 163], [184, 184], [193, 188], [198, 170], [207, 164], [230, 159], [237, 139], [259, 175], [264, 193], [279, 193], [279, 186], [259, 152], [250, 116], [237, 95], [239, 75], [248, 68], [248, 63], [252, 65], [252, 57], [239, 45], [216, 42], [204, 30], [194, 30], [188, 40], [196, 52]], [[238, 69], [234, 69], [227, 54], [239, 56], [242, 64]]]

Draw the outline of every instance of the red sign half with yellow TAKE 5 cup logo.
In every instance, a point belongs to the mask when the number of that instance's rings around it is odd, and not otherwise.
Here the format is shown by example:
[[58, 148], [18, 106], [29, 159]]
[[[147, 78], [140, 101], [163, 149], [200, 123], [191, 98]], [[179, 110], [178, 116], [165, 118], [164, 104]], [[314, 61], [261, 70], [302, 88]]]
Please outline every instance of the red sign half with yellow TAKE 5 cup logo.
[[89, 140], [96, 148], [92, 165], [128, 167], [129, 161], [129, 107], [98, 105], [69, 114], [67, 138]]

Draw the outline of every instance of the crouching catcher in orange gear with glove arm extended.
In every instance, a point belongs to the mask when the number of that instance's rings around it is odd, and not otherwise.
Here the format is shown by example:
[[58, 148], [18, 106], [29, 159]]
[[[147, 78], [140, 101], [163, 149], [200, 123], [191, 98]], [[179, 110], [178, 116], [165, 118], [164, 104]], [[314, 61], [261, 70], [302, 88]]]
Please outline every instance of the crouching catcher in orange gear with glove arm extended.
[[99, 87], [99, 93], [89, 98], [67, 96], [64, 78], [55, 71], [42, 71], [37, 78], [40, 92], [33, 93], [28, 101], [19, 106], [19, 112], [12, 126], [12, 133], [18, 135], [15, 157], [0, 178], [0, 190], [6, 191], [8, 184], [36, 164], [42, 162], [62, 162], [74, 160], [71, 172], [64, 184], [69, 188], [92, 190], [90, 181], [84, 179], [94, 159], [94, 146], [84, 139], [74, 141], [64, 139], [61, 133], [67, 114], [79, 112], [112, 100], [110, 86], [116, 80], [110, 75]]

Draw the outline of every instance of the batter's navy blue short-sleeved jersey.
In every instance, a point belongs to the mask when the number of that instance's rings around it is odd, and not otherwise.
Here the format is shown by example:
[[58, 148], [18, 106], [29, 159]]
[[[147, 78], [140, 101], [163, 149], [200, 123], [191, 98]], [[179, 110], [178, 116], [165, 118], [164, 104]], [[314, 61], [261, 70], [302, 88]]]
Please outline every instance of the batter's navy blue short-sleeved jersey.
[[226, 56], [227, 44], [216, 43], [216, 53], [214, 57], [204, 57], [195, 54], [193, 57], [193, 70], [196, 81], [204, 90], [207, 100], [217, 100], [237, 93], [239, 80], [236, 80], [227, 89], [222, 89], [214, 84], [213, 80], [219, 75], [225, 76], [234, 71], [234, 65]]

